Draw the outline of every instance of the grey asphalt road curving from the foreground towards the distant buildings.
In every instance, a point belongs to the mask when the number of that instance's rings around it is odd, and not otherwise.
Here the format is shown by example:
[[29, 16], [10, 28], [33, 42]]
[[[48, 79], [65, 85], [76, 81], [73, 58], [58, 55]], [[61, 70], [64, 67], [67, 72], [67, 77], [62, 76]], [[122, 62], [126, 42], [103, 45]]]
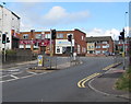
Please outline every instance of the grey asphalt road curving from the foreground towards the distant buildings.
[[63, 70], [27, 77], [2, 83], [3, 102], [128, 102], [124, 99], [105, 96], [87, 86], [80, 88], [78, 83], [94, 73], [103, 73], [108, 65], [115, 61], [112, 57], [81, 57], [82, 65]]

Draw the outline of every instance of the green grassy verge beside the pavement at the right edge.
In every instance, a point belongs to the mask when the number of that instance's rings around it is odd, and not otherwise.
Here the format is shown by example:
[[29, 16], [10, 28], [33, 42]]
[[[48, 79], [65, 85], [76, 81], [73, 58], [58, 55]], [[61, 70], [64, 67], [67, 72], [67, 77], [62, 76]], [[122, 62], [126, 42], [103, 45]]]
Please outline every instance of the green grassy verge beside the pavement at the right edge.
[[131, 66], [116, 82], [116, 89], [131, 92]]

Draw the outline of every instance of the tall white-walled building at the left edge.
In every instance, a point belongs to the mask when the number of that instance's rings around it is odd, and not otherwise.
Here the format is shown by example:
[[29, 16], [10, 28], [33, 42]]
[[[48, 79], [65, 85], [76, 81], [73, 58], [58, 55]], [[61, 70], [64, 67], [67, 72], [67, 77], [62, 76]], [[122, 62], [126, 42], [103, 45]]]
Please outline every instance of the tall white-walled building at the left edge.
[[15, 48], [12, 43], [16, 39], [15, 34], [20, 32], [20, 18], [8, 10], [3, 5], [0, 5], [0, 50], [4, 49], [2, 44], [2, 34], [7, 34], [10, 43], [5, 44], [5, 49]]

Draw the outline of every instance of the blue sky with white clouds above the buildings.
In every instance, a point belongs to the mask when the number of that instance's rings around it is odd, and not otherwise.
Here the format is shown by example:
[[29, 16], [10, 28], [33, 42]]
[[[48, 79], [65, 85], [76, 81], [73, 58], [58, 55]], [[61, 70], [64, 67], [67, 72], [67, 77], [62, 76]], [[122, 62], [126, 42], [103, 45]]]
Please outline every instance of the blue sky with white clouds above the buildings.
[[[87, 36], [112, 36], [118, 39], [119, 32], [129, 31], [128, 0], [85, 0], [73, 2], [33, 2], [33, 0], [8, 0], [4, 5], [21, 18], [21, 31], [67, 31], [79, 28]], [[0, 3], [2, 4], [3, 1]], [[126, 13], [128, 12], [128, 13]]]

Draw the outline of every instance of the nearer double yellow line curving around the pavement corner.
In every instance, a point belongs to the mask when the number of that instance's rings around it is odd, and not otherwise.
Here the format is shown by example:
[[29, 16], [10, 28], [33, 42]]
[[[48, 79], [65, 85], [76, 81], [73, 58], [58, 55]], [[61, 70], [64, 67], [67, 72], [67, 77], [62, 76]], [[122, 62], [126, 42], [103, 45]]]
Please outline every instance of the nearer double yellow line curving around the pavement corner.
[[91, 76], [82, 79], [81, 81], [78, 82], [78, 86], [79, 86], [79, 88], [85, 88], [85, 83], [86, 83], [88, 80], [91, 80], [91, 79], [93, 79], [93, 78], [95, 78], [95, 77], [97, 77], [97, 76], [99, 76], [99, 74], [100, 74], [100, 73], [94, 73], [94, 74], [91, 74]]

